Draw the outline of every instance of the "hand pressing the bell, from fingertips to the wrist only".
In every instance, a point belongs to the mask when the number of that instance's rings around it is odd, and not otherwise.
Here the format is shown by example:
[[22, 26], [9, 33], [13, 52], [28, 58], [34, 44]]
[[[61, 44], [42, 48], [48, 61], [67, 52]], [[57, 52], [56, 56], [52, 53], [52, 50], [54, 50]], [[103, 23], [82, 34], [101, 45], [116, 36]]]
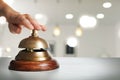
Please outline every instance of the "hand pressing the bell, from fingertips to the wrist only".
[[9, 30], [11, 33], [19, 34], [21, 33], [22, 26], [32, 30], [42, 30], [45, 31], [46, 27], [40, 25], [35, 19], [33, 19], [29, 14], [20, 14], [14, 12], [7, 15], [7, 21]]

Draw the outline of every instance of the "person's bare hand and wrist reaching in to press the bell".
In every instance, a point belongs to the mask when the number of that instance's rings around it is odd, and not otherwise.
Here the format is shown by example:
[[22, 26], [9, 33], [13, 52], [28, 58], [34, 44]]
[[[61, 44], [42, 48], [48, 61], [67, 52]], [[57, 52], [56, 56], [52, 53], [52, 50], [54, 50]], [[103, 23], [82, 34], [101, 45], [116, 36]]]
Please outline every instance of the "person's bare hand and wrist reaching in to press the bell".
[[29, 14], [21, 14], [12, 9], [3, 0], [0, 0], [0, 16], [6, 17], [8, 27], [11, 33], [20, 34], [22, 27], [26, 27], [30, 30], [42, 30], [46, 31], [46, 27], [39, 24]]

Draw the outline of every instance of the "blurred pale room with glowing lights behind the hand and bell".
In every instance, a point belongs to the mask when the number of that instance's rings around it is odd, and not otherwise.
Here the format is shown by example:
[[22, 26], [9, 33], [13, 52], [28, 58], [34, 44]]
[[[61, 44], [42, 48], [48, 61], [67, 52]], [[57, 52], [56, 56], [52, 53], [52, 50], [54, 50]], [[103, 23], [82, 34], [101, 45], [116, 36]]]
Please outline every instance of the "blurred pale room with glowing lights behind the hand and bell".
[[[20, 13], [28, 13], [47, 31], [39, 36], [48, 41], [55, 57], [119, 57], [120, 0], [5, 0]], [[23, 28], [12, 34], [0, 17], [0, 56], [18, 54], [20, 41], [31, 35]]]

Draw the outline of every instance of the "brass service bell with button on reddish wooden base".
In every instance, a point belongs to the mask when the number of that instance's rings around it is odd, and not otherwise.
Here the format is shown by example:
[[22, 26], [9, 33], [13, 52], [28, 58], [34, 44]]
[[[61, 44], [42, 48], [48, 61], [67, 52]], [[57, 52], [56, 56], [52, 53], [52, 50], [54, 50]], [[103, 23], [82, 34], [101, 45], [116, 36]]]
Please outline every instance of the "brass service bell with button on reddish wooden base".
[[48, 43], [38, 36], [37, 30], [32, 30], [31, 36], [23, 39], [19, 48], [23, 50], [10, 62], [10, 70], [46, 71], [59, 67], [57, 61], [50, 56]]

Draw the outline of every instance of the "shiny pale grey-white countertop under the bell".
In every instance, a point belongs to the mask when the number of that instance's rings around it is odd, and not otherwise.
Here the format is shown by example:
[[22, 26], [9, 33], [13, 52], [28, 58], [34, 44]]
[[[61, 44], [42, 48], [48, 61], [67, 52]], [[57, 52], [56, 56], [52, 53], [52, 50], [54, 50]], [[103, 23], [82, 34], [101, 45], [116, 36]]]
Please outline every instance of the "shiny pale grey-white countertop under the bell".
[[51, 71], [8, 70], [10, 58], [0, 58], [0, 80], [120, 80], [119, 58], [55, 58], [60, 68]]

